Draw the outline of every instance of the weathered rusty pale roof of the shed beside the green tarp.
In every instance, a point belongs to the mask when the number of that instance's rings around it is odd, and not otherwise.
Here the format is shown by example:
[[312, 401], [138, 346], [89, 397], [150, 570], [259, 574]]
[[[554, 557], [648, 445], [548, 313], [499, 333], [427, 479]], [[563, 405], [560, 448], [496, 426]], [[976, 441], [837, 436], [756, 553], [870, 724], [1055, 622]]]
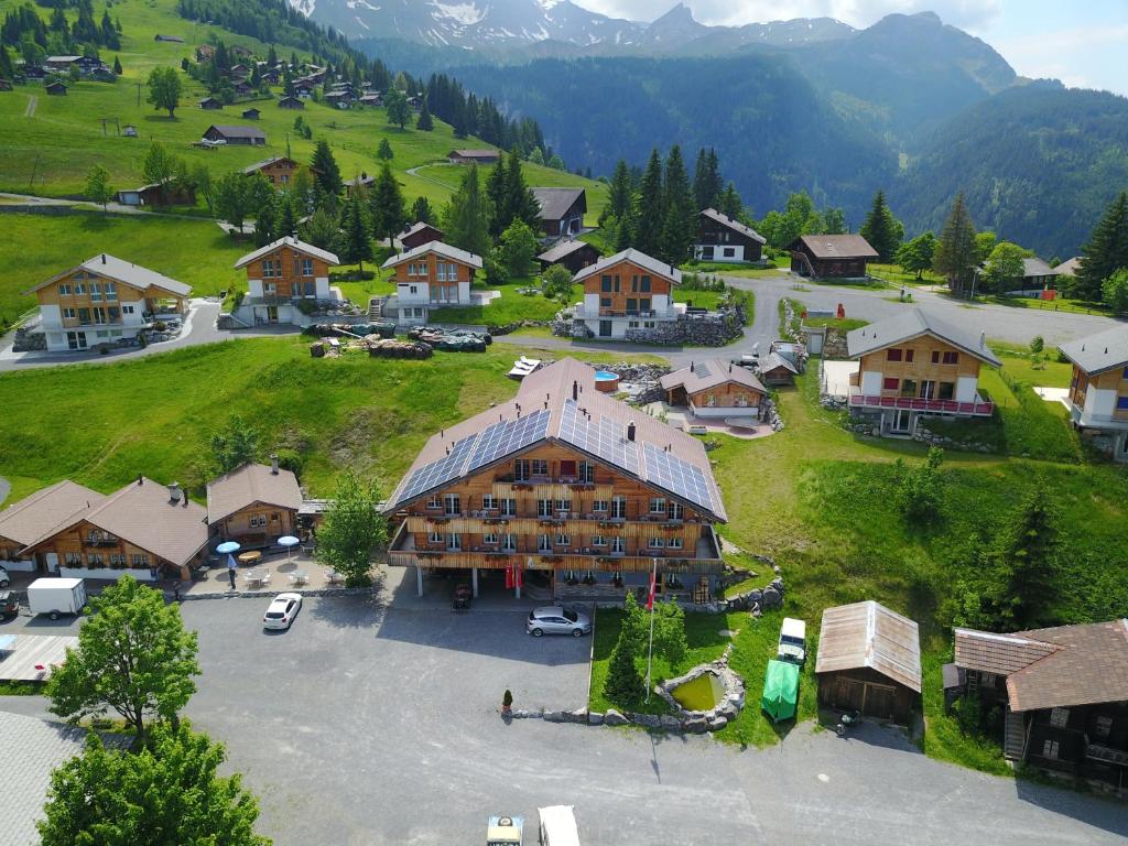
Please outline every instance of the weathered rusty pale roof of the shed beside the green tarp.
[[920, 693], [917, 624], [872, 599], [823, 610], [814, 671], [862, 668]]

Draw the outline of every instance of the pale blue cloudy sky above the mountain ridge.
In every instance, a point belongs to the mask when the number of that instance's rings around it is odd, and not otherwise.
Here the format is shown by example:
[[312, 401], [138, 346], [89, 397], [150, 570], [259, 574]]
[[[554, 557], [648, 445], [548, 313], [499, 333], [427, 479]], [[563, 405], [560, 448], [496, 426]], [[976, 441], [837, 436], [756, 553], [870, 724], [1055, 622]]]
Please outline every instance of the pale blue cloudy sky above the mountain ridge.
[[[593, 11], [651, 20], [676, 0], [573, 0]], [[935, 11], [982, 38], [1024, 77], [1128, 96], [1128, 0], [686, 0], [706, 24], [832, 17], [865, 27], [890, 12]]]

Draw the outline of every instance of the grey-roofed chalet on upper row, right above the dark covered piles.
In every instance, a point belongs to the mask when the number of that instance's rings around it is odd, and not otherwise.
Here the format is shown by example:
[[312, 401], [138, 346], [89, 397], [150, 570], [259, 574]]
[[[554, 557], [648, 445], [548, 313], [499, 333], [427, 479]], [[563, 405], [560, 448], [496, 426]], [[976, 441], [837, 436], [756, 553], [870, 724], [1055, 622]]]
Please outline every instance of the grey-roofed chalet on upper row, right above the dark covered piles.
[[389, 268], [396, 296], [382, 306], [382, 316], [400, 326], [425, 324], [431, 309], [470, 305], [470, 283], [482, 270], [482, 256], [429, 241], [388, 258], [384, 270]]

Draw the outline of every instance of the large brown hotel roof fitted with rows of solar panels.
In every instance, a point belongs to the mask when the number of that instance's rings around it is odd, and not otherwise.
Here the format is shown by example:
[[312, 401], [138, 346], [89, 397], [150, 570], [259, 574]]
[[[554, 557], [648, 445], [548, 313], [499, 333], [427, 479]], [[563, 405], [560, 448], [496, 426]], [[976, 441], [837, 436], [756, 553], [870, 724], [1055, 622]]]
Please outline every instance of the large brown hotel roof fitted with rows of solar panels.
[[575, 359], [530, 373], [513, 399], [432, 435], [385, 510], [396, 511], [546, 441], [590, 456], [712, 519], [728, 519], [702, 443], [597, 390], [596, 371]]

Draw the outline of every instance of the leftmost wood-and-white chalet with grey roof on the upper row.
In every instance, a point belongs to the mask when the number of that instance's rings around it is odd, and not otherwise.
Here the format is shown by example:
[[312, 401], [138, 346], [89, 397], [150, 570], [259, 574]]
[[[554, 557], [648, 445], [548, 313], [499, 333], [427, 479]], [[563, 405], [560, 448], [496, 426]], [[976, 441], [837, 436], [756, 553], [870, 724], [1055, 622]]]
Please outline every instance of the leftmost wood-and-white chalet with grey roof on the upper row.
[[51, 352], [138, 343], [161, 316], [180, 319], [192, 289], [183, 282], [106, 253], [63, 271], [25, 293], [39, 302]]

